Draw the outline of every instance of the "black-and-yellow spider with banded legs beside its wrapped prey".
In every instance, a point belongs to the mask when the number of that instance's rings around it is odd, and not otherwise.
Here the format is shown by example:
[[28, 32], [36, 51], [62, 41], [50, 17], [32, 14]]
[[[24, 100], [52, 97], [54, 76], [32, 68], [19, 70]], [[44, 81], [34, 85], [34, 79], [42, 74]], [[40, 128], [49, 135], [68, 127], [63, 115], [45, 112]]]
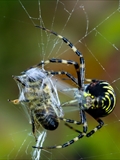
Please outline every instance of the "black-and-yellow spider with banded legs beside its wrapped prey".
[[[104, 80], [85, 78], [85, 62], [84, 62], [83, 55], [80, 51], [77, 50], [77, 48], [68, 39], [42, 26], [36, 26], [36, 27], [41, 28], [57, 36], [58, 38], [62, 39], [63, 42], [65, 42], [80, 59], [80, 65], [77, 62], [72, 60], [63, 60], [63, 59], [55, 59], [55, 58], [42, 61], [41, 63], [38, 64], [38, 66], [41, 66], [42, 64], [48, 64], [48, 63], [64, 63], [64, 64], [73, 65], [75, 67], [77, 80], [70, 73], [66, 71], [58, 71], [58, 72], [51, 71], [48, 73], [53, 75], [65, 74], [76, 84], [77, 88], [67, 89], [68, 91], [74, 90], [75, 100], [66, 102], [64, 105], [69, 105], [75, 101], [78, 102], [81, 120], [80, 120], [80, 123], [76, 123], [76, 121], [74, 120], [71, 120], [71, 121], [65, 120], [65, 121], [70, 123], [75, 123], [78, 125], [83, 124], [83, 131], [82, 132], [78, 131], [73, 127], [71, 127], [70, 125], [66, 124], [66, 126], [78, 132], [79, 135], [73, 138], [72, 140], [58, 146], [51, 146], [51, 147], [33, 146], [33, 148], [38, 148], [38, 149], [64, 148], [73, 144], [74, 142], [78, 141], [80, 138], [84, 136], [90, 137], [97, 130], [99, 130], [104, 125], [104, 122], [100, 118], [109, 115], [113, 111], [116, 104], [116, 96], [115, 96], [114, 89], [108, 82]], [[85, 81], [88, 83], [84, 84]], [[98, 125], [89, 132], [87, 132], [88, 127], [87, 127], [85, 112], [91, 115], [98, 122]]]

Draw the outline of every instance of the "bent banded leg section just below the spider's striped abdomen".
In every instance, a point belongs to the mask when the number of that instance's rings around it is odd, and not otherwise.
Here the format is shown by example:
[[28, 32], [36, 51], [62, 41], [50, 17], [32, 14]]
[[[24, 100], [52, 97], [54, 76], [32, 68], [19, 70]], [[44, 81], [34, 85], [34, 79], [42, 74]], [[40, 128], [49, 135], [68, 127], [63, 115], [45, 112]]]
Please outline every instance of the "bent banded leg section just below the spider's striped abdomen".
[[90, 137], [91, 135], [93, 135], [97, 130], [99, 130], [100, 128], [102, 128], [102, 126], [104, 125], [104, 122], [101, 119], [95, 119], [99, 125], [96, 126], [93, 130], [91, 130], [90, 132], [88, 132], [86, 134], [86, 137]]

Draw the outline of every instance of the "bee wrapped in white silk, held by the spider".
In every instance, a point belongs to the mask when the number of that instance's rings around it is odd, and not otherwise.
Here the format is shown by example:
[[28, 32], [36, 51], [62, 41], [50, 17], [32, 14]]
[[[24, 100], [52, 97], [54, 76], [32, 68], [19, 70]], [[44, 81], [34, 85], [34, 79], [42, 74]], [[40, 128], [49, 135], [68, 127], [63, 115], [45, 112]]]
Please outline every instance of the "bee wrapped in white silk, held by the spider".
[[36, 130], [42, 127], [46, 130], [55, 130], [62, 118], [63, 110], [60, 106], [57, 89], [51, 76], [42, 68], [33, 67], [20, 76], [13, 76], [20, 96], [9, 100], [13, 104], [22, 104], [30, 115], [32, 132], [37, 141]]

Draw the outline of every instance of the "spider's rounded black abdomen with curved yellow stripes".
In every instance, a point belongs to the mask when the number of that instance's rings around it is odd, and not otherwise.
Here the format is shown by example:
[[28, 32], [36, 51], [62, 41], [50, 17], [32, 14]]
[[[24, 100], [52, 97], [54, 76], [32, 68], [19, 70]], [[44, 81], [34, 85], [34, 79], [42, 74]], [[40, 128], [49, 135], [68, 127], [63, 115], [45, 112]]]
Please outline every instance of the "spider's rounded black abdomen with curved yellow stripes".
[[87, 88], [91, 98], [94, 99], [93, 105], [86, 110], [94, 118], [104, 117], [110, 114], [116, 104], [116, 96], [112, 86], [102, 80], [93, 80]]

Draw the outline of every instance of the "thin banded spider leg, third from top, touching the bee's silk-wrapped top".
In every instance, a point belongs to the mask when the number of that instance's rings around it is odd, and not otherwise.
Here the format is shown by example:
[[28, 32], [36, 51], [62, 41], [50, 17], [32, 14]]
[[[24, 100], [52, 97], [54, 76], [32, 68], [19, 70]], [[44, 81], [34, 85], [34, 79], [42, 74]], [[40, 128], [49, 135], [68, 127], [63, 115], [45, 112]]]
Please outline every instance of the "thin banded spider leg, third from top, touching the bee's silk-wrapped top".
[[60, 74], [65, 74], [67, 77], [69, 77], [76, 85], [78, 85], [76, 79], [69, 74], [68, 72], [65, 71], [46, 71], [46, 73], [48, 74], [52, 74], [52, 75], [60, 75]]

